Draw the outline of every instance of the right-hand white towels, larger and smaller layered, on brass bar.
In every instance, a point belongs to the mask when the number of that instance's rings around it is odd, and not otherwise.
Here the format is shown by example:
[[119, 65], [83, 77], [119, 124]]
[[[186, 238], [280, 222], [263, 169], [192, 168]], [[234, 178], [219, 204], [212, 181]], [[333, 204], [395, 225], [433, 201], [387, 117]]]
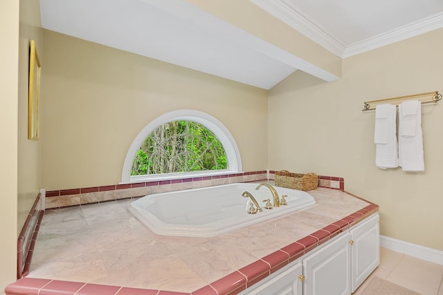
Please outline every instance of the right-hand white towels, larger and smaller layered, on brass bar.
[[418, 100], [399, 105], [399, 166], [403, 171], [424, 171], [422, 104]]

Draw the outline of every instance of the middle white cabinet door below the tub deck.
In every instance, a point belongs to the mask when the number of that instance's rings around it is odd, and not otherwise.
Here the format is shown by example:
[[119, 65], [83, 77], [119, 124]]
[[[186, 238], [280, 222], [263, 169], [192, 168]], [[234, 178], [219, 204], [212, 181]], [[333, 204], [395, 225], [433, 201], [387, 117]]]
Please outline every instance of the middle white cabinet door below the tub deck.
[[351, 294], [350, 236], [341, 236], [303, 260], [304, 295]]

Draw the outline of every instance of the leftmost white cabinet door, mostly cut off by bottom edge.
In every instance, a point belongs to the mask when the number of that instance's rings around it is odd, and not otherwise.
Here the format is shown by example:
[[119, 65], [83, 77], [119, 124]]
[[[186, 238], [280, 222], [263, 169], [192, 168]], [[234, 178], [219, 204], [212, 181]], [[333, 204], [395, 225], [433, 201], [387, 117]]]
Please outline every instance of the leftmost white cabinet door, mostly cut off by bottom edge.
[[[298, 277], [303, 273], [301, 263], [297, 263], [253, 289], [248, 295], [302, 295], [302, 281]], [[260, 283], [259, 283], [260, 284]]]

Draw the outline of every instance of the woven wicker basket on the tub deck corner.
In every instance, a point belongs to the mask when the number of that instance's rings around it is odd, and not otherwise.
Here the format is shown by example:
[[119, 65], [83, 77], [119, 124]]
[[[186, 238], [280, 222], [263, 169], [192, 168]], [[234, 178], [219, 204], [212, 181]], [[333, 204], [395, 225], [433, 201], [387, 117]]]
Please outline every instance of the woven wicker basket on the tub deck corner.
[[282, 170], [275, 173], [275, 186], [310, 191], [318, 187], [318, 176], [316, 173], [300, 174]]

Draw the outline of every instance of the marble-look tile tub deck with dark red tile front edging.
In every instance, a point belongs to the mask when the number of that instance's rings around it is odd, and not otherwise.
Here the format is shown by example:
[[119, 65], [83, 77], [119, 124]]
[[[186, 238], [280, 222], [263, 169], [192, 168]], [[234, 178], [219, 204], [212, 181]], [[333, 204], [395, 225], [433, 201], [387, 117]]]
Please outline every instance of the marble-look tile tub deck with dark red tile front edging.
[[337, 189], [310, 193], [314, 207], [204, 239], [153, 234], [127, 212], [131, 200], [47, 211], [30, 274], [7, 294], [46, 294], [38, 293], [44, 285], [27, 287], [36, 278], [169, 290], [159, 292], [165, 295], [237, 294], [307, 254], [326, 233], [336, 236], [378, 211]]

